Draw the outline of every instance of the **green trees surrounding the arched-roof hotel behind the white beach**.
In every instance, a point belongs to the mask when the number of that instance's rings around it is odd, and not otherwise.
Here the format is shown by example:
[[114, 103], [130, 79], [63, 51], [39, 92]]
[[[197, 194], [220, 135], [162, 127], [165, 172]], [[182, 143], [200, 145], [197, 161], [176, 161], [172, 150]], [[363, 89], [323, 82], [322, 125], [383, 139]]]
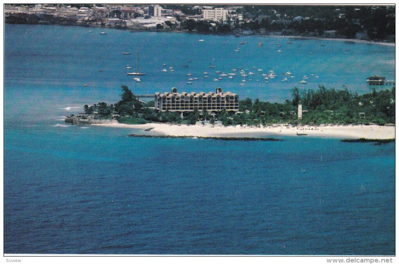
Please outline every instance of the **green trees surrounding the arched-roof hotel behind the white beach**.
[[[170, 122], [195, 124], [197, 121], [221, 121], [223, 125], [290, 124], [367, 124], [395, 123], [395, 87], [359, 95], [345, 89], [291, 89], [292, 99], [283, 103], [246, 98], [239, 101], [238, 112], [206, 110], [183, 113], [158, 111], [154, 101], [140, 102], [134, 93], [122, 86], [121, 100], [115, 104], [99, 102], [84, 106], [86, 114], [98, 118], [111, 118], [117, 114], [121, 123], [142, 124]], [[298, 120], [298, 104], [303, 107], [302, 119]]]

